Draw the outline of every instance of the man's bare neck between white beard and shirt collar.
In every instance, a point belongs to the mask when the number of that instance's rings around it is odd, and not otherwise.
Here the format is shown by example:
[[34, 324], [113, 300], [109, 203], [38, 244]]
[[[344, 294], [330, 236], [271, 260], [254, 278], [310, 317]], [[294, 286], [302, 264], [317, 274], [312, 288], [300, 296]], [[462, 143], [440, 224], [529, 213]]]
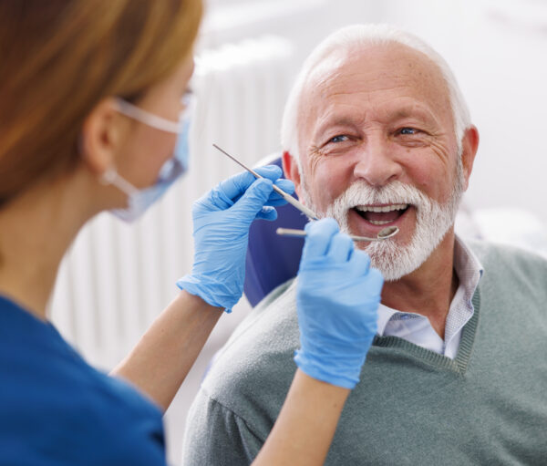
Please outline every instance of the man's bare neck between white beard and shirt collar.
[[428, 317], [441, 338], [459, 286], [454, 272], [454, 242], [450, 229], [424, 264], [395, 282], [386, 282], [382, 290], [383, 305]]

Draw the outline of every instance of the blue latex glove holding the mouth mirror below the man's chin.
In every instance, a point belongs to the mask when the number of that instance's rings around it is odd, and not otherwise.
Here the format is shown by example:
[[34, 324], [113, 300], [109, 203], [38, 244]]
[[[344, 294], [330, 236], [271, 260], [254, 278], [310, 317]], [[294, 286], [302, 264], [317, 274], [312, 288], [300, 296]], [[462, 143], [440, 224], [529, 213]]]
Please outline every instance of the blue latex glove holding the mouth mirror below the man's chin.
[[305, 229], [296, 287], [301, 348], [294, 360], [310, 377], [354, 388], [377, 331], [384, 279], [335, 220]]

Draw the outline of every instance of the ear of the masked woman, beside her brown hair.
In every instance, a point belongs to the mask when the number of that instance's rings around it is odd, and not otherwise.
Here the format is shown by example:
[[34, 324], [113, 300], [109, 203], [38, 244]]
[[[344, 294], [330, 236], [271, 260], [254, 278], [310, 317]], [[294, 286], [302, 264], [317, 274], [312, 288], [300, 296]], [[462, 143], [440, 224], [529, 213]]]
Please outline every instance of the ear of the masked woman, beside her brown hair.
[[97, 175], [115, 166], [128, 122], [116, 110], [113, 98], [105, 98], [88, 114], [80, 134], [81, 157]]

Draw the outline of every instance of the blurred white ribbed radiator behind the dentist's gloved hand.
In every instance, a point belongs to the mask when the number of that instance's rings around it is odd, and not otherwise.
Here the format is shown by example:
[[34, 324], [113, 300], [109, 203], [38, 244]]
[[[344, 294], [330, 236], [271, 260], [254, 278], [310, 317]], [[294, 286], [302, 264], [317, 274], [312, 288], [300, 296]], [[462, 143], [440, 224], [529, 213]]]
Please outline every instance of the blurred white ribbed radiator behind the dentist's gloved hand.
[[138, 223], [101, 213], [78, 235], [61, 264], [50, 316], [90, 363], [108, 369], [127, 355], [191, 270], [191, 202], [240, 171], [212, 143], [250, 165], [279, 150], [292, 57], [290, 44], [275, 36], [204, 50], [192, 79], [199, 101], [190, 172]]

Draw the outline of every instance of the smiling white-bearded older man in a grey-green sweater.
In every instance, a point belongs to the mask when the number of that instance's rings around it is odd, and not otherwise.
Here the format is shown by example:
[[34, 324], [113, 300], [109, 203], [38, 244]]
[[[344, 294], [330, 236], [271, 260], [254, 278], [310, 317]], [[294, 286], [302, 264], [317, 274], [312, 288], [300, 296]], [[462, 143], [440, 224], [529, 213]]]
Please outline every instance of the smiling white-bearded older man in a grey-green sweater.
[[[284, 115], [287, 176], [346, 232], [399, 228], [360, 245], [386, 285], [327, 464], [547, 461], [547, 263], [454, 234], [478, 143], [449, 67], [415, 36], [350, 26], [304, 63]], [[274, 290], [224, 347], [185, 464], [257, 454], [294, 374], [294, 290]]]

